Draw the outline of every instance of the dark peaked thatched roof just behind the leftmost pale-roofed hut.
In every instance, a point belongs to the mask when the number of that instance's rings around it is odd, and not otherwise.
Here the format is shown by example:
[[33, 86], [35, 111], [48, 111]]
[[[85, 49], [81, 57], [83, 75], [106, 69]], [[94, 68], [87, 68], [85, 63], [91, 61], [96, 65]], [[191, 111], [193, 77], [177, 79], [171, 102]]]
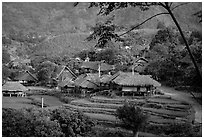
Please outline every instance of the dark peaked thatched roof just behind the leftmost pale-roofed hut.
[[38, 78], [35, 74], [30, 73], [29, 71], [22, 72], [17, 78], [18, 81], [37, 81]]

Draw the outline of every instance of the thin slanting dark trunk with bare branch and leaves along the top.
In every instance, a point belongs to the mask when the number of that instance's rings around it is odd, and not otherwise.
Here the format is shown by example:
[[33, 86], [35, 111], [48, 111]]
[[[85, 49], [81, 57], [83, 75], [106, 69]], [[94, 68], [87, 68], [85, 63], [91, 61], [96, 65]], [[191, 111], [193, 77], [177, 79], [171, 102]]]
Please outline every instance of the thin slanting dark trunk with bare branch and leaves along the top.
[[[178, 8], [178, 7], [182, 6], [182, 5], [186, 5], [186, 4], [188, 4], [188, 3], [181, 3], [181, 4], [178, 4], [178, 5], [174, 6], [174, 4], [172, 2], [164, 2], [164, 3], [162, 3], [162, 2], [98, 2], [98, 3], [97, 2], [91, 2], [89, 7], [99, 7], [100, 11], [99, 11], [98, 14], [100, 14], [100, 15], [109, 15], [111, 12], [113, 12], [115, 10], [118, 10], [118, 9], [121, 9], [121, 8], [127, 8], [129, 6], [131, 6], [131, 7], [140, 7], [141, 10], [148, 10], [150, 6], [161, 6], [161, 7], [163, 7], [166, 10], [166, 12], [158, 13], [156, 15], [153, 15], [153, 16], [147, 18], [142, 23], [137, 24], [136, 26], [132, 27], [130, 30], [128, 30], [127, 32], [121, 34], [120, 36], [122, 36], [124, 34], [127, 34], [128, 32], [138, 28], [139, 26], [141, 26], [142, 24], [146, 23], [147, 21], [153, 19], [156, 16], [160, 16], [160, 15], [164, 15], [164, 14], [170, 15], [172, 20], [174, 21], [176, 27], [178, 28], [181, 37], [184, 40], [184, 44], [186, 46], [186, 49], [187, 49], [187, 51], [189, 53], [189, 56], [190, 56], [190, 58], [191, 58], [191, 60], [193, 62], [193, 65], [195, 67], [195, 70], [196, 70], [198, 76], [200, 78], [202, 78], [201, 73], [200, 73], [199, 68], [198, 68], [198, 65], [197, 65], [197, 63], [196, 63], [196, 61], [195, 61], [195, 59], [194, 59], [194, 57], [192, 55], [189, 44], [188, 44], [188, 42], [187, 42], [187, 40], [186, 40], [186, 38], [184, 36], [184, 33], [183, 33], [177, 19], [175, 18], [174, 14], [173, 14], [173, 10], [175, 10], [176, 8]], [[77, 3], [75, 4], [75, 6], [76, 5], [77, 5]], [[199, 15], [199, 17], [201, 17], [201, 16]]]

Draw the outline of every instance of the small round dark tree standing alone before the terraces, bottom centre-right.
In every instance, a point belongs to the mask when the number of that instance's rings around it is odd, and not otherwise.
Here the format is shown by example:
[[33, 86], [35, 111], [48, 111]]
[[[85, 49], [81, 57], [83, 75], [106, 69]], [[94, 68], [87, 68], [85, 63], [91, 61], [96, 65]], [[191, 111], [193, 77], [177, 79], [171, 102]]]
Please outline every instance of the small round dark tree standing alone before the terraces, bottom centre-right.
[[132, 130], [133, 136], [138, 136], [138, 131], [147, 122], [148, 116], [144, 114], [140, 107], [131, 103], [125, 103], [122, 107], [116, 110], [118, 117], [125, 128]]

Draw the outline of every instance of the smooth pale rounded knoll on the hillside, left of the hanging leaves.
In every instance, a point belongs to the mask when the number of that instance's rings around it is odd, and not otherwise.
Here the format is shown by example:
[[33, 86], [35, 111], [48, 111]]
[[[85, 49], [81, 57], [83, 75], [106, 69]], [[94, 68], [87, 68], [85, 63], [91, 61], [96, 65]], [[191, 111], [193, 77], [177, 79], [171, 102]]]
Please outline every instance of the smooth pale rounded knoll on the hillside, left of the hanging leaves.
[[88, 33], [70, 33], [53, 37], [37, 45], [34, 54], [46, 53], [48, 56], [68, 55], [71, 57], [96, 44], [95, 41], [84, 41], [88, 35]]

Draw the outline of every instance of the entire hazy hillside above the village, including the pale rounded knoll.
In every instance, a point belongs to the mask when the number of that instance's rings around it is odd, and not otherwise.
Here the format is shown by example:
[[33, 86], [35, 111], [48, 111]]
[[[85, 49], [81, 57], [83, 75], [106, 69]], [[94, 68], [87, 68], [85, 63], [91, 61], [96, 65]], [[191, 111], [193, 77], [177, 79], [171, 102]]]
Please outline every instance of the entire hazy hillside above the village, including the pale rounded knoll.
[[[83, 49], [93, 47], [95, 42], [83, 42], [90, 32], [90, 27], [96, 22], [105, 20], [107, 17], [97, 16], [97, 8], [88, 8], [89, 3], [80, 3], [74, 7], [73, 3], [32, 3], [32, 2], [3, 2], [2, 4], [2, 33], [6, 36], [13, 32], [27, 34], [37, 32], [47, 37], [45, 41], [33, 46], [18, 44], [16, 42], [8, 49], [17, 50], [13, 54], [40, 54], [69, 55]], [[173, 3], [176, 6], [178, 3]], [[193, 16], [201, 10], [201, 3], [189, 3], [174, 10], [179, 23], [184, 30], [201, 30], [201, 24]], [[147, 11], [139, 8], [126, 8], [115, 11], [114, 22], [119, 26], [130, 28], [132, 25], [141, 23], [146, 18], [163, 12], [161, 7], [152, 7]], [[112, 14], [111, 14], [112, 15]], [[111, 16], [110, 15], [110, 16]], [[172, 20], [168, 15], [158, 16], [140, 27], [141, 30], [135, 31], [137, 40], [146, 39], [149, 43], [158, 31], [158, 24], [173, 26]], [[145, 30], [145, 31], [144, 31]], [[144, 33], [145, 32], [145, 33]], [[15, 49], [15, 46], [18, 46]]]

